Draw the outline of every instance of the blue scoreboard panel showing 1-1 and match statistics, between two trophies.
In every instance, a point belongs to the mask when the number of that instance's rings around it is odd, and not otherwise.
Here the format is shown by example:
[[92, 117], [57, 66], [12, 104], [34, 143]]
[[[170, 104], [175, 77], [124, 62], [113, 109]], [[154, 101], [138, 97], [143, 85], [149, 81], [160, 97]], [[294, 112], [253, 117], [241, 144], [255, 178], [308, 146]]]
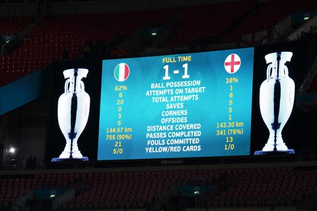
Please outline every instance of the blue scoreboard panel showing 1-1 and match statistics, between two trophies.
[[104, 60], [98, 160], [250, 154], [254, 48]]

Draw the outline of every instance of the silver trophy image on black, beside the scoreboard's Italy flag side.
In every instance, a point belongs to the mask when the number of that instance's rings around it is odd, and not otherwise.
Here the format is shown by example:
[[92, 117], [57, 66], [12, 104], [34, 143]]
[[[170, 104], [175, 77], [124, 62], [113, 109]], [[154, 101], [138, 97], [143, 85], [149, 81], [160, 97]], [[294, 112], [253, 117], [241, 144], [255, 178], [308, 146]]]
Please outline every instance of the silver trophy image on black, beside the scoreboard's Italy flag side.
[[89, 116], [90, 97], [85, 91], [82, 78], [86, 78], [87, 69], [69, 69], [63, 72], [65, 91], [58, 99], [57, 116], [60, 130], [65, 139], [66, 146], [59, 158], [53, 158], [52, 162], [63, 161], [63, 159], [76, 159], [88, 161], [80, 153], [77, 141], [83, 132]]

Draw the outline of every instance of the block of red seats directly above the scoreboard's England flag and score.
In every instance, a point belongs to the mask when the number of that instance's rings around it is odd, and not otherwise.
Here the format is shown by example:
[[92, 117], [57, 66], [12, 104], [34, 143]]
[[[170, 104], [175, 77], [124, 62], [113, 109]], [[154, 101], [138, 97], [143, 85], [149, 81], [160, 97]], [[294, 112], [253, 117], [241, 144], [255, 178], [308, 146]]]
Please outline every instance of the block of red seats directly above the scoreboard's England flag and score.
[[179, 8], [183, 17], [176, 25], [181, 29], [164, 46], [187, 46], [197, 39], [216, 37], [255, 4], [256, 0], [246, 0]]

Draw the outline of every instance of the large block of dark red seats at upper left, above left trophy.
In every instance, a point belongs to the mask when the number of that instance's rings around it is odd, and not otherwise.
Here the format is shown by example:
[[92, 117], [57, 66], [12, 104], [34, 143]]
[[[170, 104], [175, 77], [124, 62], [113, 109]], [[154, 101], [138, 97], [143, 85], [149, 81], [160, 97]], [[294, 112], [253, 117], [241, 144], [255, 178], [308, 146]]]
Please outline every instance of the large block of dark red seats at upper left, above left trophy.
[[[42, 20], [28, 34], [30, 37], [10, 55], [1, 56], [2, 85], [46, 67], [53, 60], [79, 57], [89, 41], [109, 42], [116, 35], [130, 35], [141, 27], [154, 27], [168, 20], [170, 9], [114, 12], [87, 15], [60, 15]], [[131, 18], [126, 19], [125, 16]], [[20, 25], [18, 25], [20, 26]], [[17, 27], [18, 27], [17, 26]]]

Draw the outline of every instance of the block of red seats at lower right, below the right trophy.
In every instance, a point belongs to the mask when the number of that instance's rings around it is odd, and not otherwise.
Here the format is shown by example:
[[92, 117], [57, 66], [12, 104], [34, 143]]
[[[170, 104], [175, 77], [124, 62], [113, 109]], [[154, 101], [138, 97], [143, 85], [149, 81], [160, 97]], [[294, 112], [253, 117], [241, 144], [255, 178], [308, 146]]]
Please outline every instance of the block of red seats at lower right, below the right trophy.
[[[235, 169], [235, 187], [209, 202], [213, 206], [291, 206], [300, 203], [304, 193], [314, 190], [315, 171], [291, 168]], [[227, 205], [226, 205], [227, 206]]]

